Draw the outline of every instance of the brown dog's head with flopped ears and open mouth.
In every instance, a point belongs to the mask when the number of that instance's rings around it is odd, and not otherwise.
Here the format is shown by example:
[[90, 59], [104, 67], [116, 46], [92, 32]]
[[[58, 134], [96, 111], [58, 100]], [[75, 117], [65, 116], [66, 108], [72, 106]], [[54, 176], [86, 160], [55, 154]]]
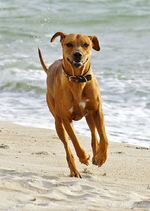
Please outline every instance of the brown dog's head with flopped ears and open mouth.
[[57, 32], [51, 38], [51, 42], [58, 36], [60, 36], [62, 44], [63, 58], [70, 63], [73, 68], [81, 68], [89, 61], [92, 48], [96, 51], [100, 50], [99, 41], [96, 36]]

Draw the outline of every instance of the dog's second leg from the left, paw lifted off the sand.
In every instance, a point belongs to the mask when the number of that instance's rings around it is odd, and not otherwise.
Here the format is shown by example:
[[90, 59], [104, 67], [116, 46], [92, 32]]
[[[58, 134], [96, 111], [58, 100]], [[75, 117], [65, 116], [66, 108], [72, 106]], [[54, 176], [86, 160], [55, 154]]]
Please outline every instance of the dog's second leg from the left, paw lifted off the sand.
[[80, 160], [81, 163], [84, 163], [85, 165], [88, 165], [88, 160], [90, 159], [90, 156], [88, 156], [86, 154], [86, 152], [84, 151], [84, 149], [82, 149], [82, 147], [79, 144], [79, 141], [75, 135], [75, 132], [73, 130], [72, 124], [68, 119], [63, 119], [63, 124], [64, 127], [74, 145], [74, 148], [76, 150], [76, 154]]

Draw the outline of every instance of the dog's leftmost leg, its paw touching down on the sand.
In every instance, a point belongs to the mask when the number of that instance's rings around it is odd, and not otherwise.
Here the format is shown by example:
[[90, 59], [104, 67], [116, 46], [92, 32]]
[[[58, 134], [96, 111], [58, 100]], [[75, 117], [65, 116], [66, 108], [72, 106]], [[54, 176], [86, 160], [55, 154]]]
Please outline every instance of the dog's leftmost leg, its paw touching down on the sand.
[[58, 134], [60, 140], [64, 144], [64, 148], [65, 148], [65, 151], [66, 151], [66, 159], [67, 159], [68, 166], [69, 166], [69, 169], [70, 169], [70, 176], [81, 178], [81, 175], [76, 168], [75, 159], [74, 159], [73, 154], [70, 150], [70, 147], [69, 147], [69, 144], [68, 144], [68, 141], [67, 141], [67, 137], [66, 137], [66, 132], [65, 132], [65, 129], [62, 125], [62, 121], [58, 117], [55, 117], [55, 127], [56, 127], [56, 131], [57, 131], [57, 134]]

